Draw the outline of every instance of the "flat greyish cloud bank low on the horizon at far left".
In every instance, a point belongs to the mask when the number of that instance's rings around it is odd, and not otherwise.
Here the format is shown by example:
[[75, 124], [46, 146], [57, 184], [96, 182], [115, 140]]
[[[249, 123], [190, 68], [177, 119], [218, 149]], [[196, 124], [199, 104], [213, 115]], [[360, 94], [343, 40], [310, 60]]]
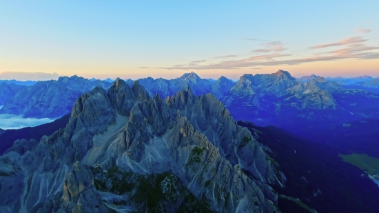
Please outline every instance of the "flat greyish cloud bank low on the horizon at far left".
[[59, 74], [46, 72], [1, 72], [1, 80], [19, 80], [19, 81], [48, 81], [57, 80]]

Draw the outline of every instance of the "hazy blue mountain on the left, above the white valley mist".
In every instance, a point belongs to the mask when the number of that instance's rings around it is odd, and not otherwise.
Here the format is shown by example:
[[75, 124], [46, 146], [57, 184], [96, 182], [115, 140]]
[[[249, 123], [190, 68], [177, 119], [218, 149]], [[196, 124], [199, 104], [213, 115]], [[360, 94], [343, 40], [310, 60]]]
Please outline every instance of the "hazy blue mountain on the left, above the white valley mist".
[[96, 86], [108, 88], [107, 81], [90, 81], [82, 77], [59, 77], [57, 81], [39, 81], [12, 97], [0, 109], [1, 114], [23, 114], [25, 117], [57, 118], [68, 114], [75, 99]]

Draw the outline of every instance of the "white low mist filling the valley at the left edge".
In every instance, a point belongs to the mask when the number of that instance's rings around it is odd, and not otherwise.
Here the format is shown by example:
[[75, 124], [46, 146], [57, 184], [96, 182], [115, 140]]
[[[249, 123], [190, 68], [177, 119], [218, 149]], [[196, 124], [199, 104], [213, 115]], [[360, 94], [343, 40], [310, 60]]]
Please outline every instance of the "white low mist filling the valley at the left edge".
[[[2, 107], [2, 106], [1, 106]], [[54, 119], [25, 119], [23, 116], [14, 114], [0, 114], [0, 129], [19, 129], [25, 127], [34, 127], [44, 123], [50, 123]]]

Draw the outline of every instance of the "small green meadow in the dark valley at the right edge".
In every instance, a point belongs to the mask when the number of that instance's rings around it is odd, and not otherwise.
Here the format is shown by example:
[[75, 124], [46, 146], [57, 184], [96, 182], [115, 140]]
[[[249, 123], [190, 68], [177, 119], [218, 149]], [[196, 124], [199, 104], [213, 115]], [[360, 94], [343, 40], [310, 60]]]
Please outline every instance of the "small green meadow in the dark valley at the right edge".
[[342, 161], [355, 165], [370, 174], [371, 176], [379, 175], [379, 159], [368, 156], [367, 154], [338, 154]]

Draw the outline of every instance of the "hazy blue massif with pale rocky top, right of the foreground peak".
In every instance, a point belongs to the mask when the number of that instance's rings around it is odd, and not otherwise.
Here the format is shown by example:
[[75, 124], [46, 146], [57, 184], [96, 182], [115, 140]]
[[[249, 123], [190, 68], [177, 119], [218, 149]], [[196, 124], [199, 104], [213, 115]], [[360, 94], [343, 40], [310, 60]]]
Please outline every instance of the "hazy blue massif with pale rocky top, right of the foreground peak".
[[287, 130], [379, 116], [379, 94], [346, 90], [322, 77], [300, 83], [283, 70], [245, 74], [221, 100], [235, 119]]

